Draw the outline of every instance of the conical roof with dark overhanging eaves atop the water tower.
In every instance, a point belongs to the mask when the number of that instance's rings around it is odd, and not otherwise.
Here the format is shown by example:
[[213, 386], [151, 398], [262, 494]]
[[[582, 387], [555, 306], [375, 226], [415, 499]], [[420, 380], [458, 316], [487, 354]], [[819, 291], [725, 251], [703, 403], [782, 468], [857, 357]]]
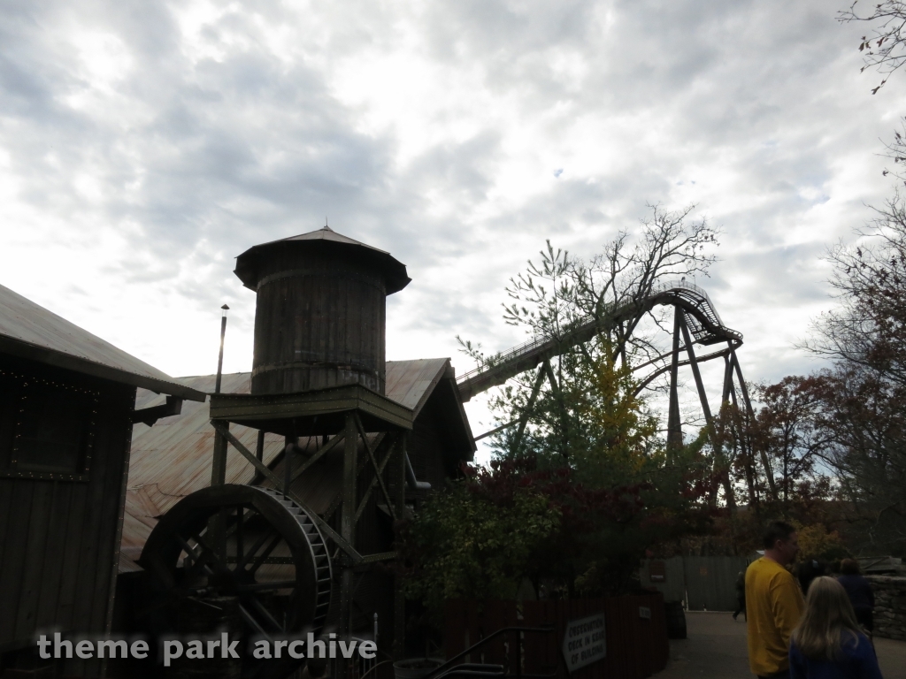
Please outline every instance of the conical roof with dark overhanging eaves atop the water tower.
[[395, 259], [390, 253], [379, 250], [368, 244], [360, 243], [349, 236], [338, 234], [327, 225], [317, 231], [310, 231], [307, 234], [291, 235], [289, 238], [281, 238], [278, 241], [254, 245], [246, 252], [236, 257], [236, 276], [242, 281], [243, 285], [250, 290], [258, 288], [258, 269], [259, 263], [267, 253], [275, 252], [281, 248], [304, 248], [304, 249], [323, 249], [324, 252], [337, 252], [342, 249], [343, 253], [348, 253], [350, 257], [367, 259], [384, 275], [384, 281], [387, 286], [387, 294], [400, 292], [409, 285], [409, 275], [406, 273], [406, 265]]

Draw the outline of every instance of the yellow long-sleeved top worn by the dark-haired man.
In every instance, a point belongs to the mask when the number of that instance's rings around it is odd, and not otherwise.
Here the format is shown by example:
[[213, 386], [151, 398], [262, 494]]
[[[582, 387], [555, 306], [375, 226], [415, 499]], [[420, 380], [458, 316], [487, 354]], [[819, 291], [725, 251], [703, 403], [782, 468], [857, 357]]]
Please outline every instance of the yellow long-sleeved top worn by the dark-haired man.
[[762, 557], [746, 570], [748, 666], [766, 676], [789, 667], [790, 635], [805, 611], [799, 583], [776, 561]]

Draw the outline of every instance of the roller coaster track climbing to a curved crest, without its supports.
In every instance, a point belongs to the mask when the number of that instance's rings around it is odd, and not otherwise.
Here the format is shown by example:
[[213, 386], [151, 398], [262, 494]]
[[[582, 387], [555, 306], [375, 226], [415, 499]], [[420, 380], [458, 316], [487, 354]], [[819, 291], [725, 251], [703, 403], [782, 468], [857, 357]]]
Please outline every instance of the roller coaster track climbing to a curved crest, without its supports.
[[[502, 385], [507, 379], [537, 367], [542, 361], [552, 359], [577, 345], [584, 344], [601, 332], [613, 330], [621, 323], [631, 324], [654, 307], [666, 305], [681, 311], [692, 343], [706, 346], [721, 342], [728, 343], [728, 349], [699, 357], [697, 362], [728, 356], [734, 349], [742, 345], [742, 333], [724, 325], [708, 297], [708, 292], [694, 283], [685, 281], [662, 282], [653, 286], [651, 292], [639, 300], [628, 301], [612, 307], [601, 316], [586, 316], [575, 321], [559, 337], [535, 337], [496, 355], [488, 365], [459, 376], [457, 379], [459, 395], [465, 403], [477, 394], [487, 391], [491, 387]], [[670, 355], [665, 354], [660, 358], [667, 358]], [[690, 355], [689, 360], [683, 361], [682, 365], [688, 364], [689, 361], [696, 361], [696, 359]], [[668, 369], [655, 370], [651, 376], [643, 380], [644, 384], [647, 385], [651, 379], [663, 374]]]

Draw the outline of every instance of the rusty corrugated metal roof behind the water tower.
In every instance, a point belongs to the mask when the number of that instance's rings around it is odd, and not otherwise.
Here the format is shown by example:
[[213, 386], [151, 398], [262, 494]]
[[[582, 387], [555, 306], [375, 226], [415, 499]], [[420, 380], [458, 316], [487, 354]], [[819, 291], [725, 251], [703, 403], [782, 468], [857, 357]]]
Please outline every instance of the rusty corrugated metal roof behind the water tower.
[[[388, 361], [385, 393], [397, 403], [411, 408], [418, 417], [432, 391], [444, 378], [453, 379], [448, 359]], [[182, 378], [182, 381], [201, 391], [213, 391], [215, 376]], [[224, 393], [247, 394], [250, 388], [251, 373], [223, 376], [221, 391]], [[140, 389], [136, 407], [158, 406], [163, 402], [164, 397]], [[470, 437], [465, 413], [462, 412], [461, 416]], [[256, 429], [232, 425], [230, 431], [246, 448], [255, 451]], [[309, 449], [317, 447], [315, 441], [303, 440], [300, 443]], [[265, 464], [273, 463], [283, 448], [282, 436], [265, 434]], [[157, 523], [157, 517], [188, 494], [207, 487], [211, 478], [213, 449], [214, 429], [210, 426], [205, 404], [185, 403], [178, 416], [164, 417], [150, 427], [143, 424], [135, 426], [122, 530], [122, 553], [126, 558], [140, 557], [141, 548]], [[255, 477], [252, 465], [233, 446], [229, 446], [227, 451], [226, 483], [252, 481]], [[281, 466], [275, 466], [278, 476]], [[342, 446], [337, 446], [296, 479], [293, 490], [313, 512], [323, 513], [334, 502], [341, 483]]]

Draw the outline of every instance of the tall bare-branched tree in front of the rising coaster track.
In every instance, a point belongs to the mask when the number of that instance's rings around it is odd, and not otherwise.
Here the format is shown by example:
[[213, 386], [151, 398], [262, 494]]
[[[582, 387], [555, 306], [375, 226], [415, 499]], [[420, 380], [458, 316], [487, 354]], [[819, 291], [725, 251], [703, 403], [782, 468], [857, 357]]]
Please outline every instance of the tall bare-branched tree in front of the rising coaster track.
[[[651, 214], [641, 220], [640, 229], [621, 231], [590, 259], [548, 242], [540, 259], [510, 280], [506, 322], [533, 338], [564, 339], [564, 350], [545, 360], [537, 373], [511, 379], [492, 399], [501, 425], [520, 423], [497, 435], [501, 452], [544, 450], [568, 463], [574, 450], [599, 445], [601, 438], [593, 443], [595, 435], [580, 404], [587, 403], [583, 394], [595, 390], [590, 376], [600, 378], [602, 371], [619, 381], [621, 390], [629, 389], [631, 398], [613, 397], [612, 405], [635, 407], [627, 405], [636, 401], [631, 365], [663, 360], [658, 331], [640, 326], [646, 317], [660, 324], [660, 311], [644, 301], [660, 282], [707, 275], [715, 261], [709, 246], [717, 244], [718, 236], [706, 219], [692, 218], [695, 206], [676, 211], [649, 207]], [[579, 344], [567, 341], [571, 331], [590, 320], [596, 321], [597, 336]], [[460, 341], [481, 365], [499, 360], [499, 355], [486, 356], [479, 346]], [[611, 372], [618, 363], [620, 368]], [[639, 421], [647, 423], [648, 414]]]

